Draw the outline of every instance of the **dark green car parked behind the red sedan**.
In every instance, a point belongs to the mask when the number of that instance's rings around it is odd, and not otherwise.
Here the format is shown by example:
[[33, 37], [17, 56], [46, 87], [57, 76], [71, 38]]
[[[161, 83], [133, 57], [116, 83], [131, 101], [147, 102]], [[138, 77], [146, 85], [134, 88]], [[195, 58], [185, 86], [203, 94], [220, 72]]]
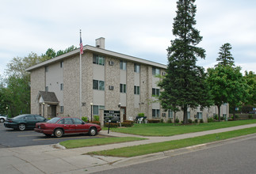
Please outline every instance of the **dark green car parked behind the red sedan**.
[[25, 129], [33, 129], [36, 127], [36, 123], [46, 122], [41, 115], [24, 114], [17, 115], [13, 118], [7, 118], [4, 123], [5, 127], [17, 129], [19, 131], [25, 131]]

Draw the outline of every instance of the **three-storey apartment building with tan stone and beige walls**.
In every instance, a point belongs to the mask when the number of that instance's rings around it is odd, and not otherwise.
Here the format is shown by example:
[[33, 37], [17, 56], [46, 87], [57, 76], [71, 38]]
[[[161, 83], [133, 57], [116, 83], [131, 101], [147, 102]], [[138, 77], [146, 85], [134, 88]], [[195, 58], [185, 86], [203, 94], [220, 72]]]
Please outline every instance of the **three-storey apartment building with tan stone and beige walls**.
[[[95, 47], [83, 48], [81, 78], [79, 49], [27, 69], [31, 74], [31, 113], [90, 118], [101, 110], [113, 110], [121, 111], [122, 120], [134, 119], [141, 112], [147, 119], [173, 119], [174, 113], [164, 111], [157, 101], [159, 74], [165, 74], [166, 67], [106, 50], [101, 37]], [[228, 107], [224, 105], [221, 112], [228, 115]], [[188, 110], [191, 119], [206, 120], [216, 113], [215, 106]], [[177, 115], [183, 118], [182, 112]]]

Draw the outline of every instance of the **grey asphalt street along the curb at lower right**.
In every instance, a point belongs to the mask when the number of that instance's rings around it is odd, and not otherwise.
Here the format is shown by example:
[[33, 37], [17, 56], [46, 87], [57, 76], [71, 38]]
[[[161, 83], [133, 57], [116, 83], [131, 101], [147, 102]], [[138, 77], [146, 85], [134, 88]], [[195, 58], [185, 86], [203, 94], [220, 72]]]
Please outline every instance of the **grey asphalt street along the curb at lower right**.
[[120, 173], [255, 173], [256, 136], [97, 174]]

